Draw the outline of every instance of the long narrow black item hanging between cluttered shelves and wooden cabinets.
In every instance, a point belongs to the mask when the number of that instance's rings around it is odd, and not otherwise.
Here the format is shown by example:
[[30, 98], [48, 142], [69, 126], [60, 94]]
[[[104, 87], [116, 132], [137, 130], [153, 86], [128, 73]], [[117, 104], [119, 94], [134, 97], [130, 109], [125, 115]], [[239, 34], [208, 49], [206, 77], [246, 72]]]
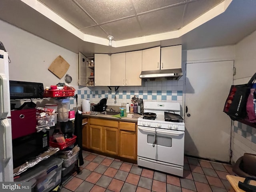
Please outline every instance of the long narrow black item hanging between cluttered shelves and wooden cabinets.
[[82, 114], [78, 113], [78, 107], [77, 107], [77, 94], [76, 94], [76, 116], [75, 116], [75, 124], [74, 124], [74, 135], [76, 136], [76, 144], [78, 147], [80, 147], [79, 151], [79, 159], [78, 159], [78, 166], [81, 166], [84, 164], [83, 154], [82, 154]]

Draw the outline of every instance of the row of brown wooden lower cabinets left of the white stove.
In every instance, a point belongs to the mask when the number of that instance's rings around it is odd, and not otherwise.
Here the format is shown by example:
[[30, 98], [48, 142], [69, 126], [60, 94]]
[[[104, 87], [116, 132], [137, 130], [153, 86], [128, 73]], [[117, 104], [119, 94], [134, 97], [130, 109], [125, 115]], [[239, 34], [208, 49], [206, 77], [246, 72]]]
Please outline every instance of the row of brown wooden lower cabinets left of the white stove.
[[136, 128], [135, 122], [89, 118], [83, 127], [83, 147], [137, 160]]

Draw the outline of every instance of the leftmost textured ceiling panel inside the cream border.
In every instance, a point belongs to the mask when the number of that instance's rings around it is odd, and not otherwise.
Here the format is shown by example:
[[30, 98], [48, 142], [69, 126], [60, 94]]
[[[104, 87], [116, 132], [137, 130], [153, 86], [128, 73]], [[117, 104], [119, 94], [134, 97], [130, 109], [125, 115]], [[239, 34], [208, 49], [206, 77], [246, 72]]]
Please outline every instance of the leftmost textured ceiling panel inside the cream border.
[[73, 1], [70, 0], [40, 0], [62, 18], [78, 29], [92, 26], [95, 22], [87, 16]]

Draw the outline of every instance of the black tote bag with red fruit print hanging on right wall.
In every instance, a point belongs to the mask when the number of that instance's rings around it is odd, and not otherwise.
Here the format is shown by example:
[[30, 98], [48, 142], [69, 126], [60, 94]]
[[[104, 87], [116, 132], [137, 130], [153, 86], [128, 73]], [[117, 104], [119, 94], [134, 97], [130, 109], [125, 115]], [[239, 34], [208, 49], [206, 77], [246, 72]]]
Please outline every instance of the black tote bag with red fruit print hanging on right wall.
[[256, 73], [247, 84], [231, 86], [223, 112], [228, 114], [232, 120], [242, 120], [246, 118], [246, 103], [255, 78]]

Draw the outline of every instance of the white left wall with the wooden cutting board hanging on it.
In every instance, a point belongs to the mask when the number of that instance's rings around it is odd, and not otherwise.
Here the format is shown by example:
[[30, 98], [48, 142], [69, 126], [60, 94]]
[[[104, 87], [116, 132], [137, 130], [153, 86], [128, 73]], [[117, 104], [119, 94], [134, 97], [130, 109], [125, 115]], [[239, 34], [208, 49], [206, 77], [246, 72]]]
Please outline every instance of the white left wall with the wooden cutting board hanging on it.
[[44, 86], [63, 83], [64, 77], [59, 79], [48, 71], [54, 59], [61, 55], [70, 64], [67, 74], [73, 78], [71, 85], [77, 85], [78, 54], [2, 20], [0, 20], [0, 26], [0, 41], [9, 52], [11, 60], [10, 80], [42, 82]]

